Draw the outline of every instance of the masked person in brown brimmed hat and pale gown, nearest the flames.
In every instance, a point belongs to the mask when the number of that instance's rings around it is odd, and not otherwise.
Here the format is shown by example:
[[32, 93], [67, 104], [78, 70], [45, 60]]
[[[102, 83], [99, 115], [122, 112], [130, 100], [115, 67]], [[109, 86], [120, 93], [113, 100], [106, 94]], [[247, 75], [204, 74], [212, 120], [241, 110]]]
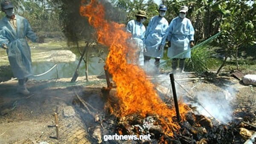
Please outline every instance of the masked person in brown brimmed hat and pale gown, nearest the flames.
[[135, 50], [135, 63], [140, 66], [144, 65], [144, 44], [143, 40], [145, 38], [145, 26], [143, 22], [147, 19], [146, 12], [139, 11], [136, 15], [136, 20], [130, 20], [127, 23], [126, 30], [132, 34], [131, 46]]

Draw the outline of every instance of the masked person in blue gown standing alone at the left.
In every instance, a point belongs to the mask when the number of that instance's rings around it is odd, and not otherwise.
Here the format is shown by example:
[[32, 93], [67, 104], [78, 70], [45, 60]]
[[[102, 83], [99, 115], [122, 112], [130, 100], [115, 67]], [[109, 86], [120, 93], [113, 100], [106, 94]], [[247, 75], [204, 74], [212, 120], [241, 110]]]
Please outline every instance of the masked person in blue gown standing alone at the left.
[[1, 10], [6, 17], [0, 20], [0, 46], [6, 49], [13, 75], [18, 79], [18, 92], [27, 95], [26, 82], [32, 76], [32, 62], [26, 37], [32, 42], [42, 41], [32, 31], [28, 20], [14, 14], [14, 6], [9, 0], [1, 2]]

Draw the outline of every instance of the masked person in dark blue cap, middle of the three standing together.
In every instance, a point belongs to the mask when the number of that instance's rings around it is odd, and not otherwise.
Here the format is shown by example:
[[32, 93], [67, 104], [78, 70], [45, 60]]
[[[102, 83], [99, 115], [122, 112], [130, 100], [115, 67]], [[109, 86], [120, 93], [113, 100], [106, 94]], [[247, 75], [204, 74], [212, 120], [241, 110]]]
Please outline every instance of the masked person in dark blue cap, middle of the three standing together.
[[151, 57], [155, 58], [154, 64], [158, 67], [160, 58], [163, 58], [163, 48], [165, 46], [168, 21], [164, 18], [167, 7], [159, 6], [159, 15], [154, 16], [148, 23], [145, 33], [145, 48], [144, 61], [147, 63]]

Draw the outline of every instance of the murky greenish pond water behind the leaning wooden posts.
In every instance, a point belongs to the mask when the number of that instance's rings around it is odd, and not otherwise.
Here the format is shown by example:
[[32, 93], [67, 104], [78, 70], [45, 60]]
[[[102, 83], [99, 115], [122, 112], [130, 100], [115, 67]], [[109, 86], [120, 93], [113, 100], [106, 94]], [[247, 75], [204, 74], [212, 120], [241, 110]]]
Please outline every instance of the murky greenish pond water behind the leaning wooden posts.
[[[53, 68], [47, 74], [35, 77], [34, 79], [35, 80], [44, 80], [44, 79], [54, 79], [54, 78], [72, 78], [73, 74], [78, 66], [81, 55], [79, 54], [76, 47], [65, 48], [65, 49], [69, 49], [76, 55], [75, 61], [70, 61], [70, 62], [53, 62], [53, 61], [32, 62], [32, 69], [33, 69], [34, 75], [39, 75], [44, 72], [47, 72], [55, 64], [57, 64], [57, 66], [55, 66], [55, 68]], [[44, 50], [47, 50], [47, 48], [44, 48]], [[52, 50], [52, 49], [49, 49], [49, 50]], [[89, 50], [89, 58], [88, 58], [88, 75], [102, 75], [105, 73], [105, 71], [104, 71], [105, 61], [102, 60], [102, 58], [105, 58], [107, 56], [107, 50], [105, 50], [105, 52], [99, 57], [97, 55], [95, 55], [95, 51], [90, 52], [91, 50], [92, 49]], [[33, 57], [32, 57], [32, 61], [33, 61]], [[82, 60], [80, 66], [79, 66], [79, 76], [84, 76], [85, 71], [86, 71], [85, 63]]]

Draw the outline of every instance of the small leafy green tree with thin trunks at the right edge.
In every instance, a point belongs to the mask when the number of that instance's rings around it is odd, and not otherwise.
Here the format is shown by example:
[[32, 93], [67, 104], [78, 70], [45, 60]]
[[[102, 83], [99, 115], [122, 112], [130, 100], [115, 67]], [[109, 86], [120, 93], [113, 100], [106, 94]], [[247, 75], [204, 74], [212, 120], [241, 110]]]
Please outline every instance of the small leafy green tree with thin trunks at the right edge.
[[225, 59], [217, 71], [217, 75], [226, 63], [227, 58], [235, 54], [237, 69], [238, 49], [242, 45], [256, 42], [256, 3], [247, 4], [247, 0], [230, 0], [223, 2], [219, 9], [224, 17], [221, 20], [222, 37], [219, 38], [221, 46], [226, 46]]

